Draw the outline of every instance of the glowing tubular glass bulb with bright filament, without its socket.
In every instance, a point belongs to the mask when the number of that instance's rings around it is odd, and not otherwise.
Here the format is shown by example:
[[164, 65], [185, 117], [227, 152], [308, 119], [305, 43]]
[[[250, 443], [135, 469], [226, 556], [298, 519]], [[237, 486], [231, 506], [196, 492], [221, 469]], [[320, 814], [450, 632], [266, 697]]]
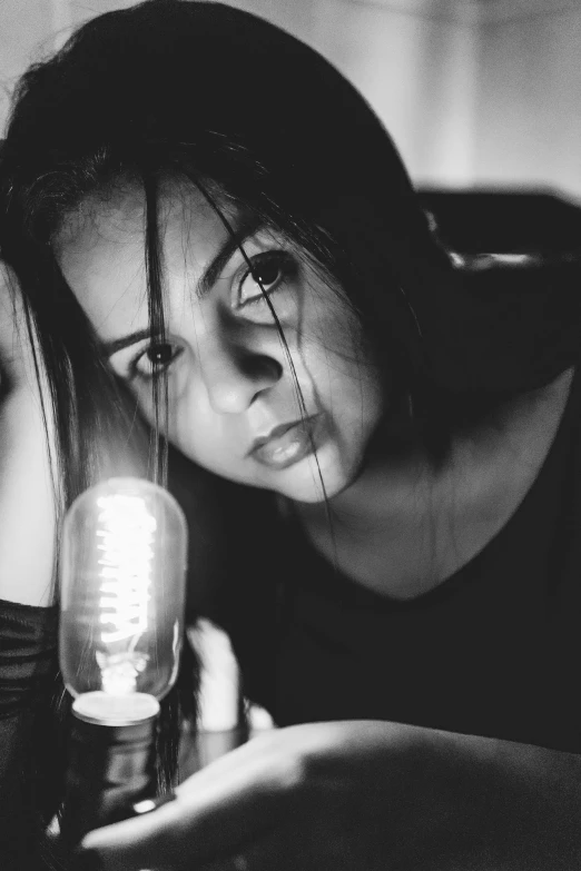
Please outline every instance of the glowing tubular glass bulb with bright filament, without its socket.
[[111, 478], [67, 512], [60, 667], [76, 713], [125, 723], [155, 715], [184, 635], [187, 526], [167, 491]]

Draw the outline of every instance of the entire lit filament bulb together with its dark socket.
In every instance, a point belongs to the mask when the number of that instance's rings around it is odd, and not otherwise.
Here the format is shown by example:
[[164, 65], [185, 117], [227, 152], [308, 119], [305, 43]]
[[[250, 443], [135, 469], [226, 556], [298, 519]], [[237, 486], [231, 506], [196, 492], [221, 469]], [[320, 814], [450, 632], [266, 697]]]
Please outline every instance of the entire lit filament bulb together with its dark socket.
[[184, 637], [186, 561], [184, 514], [148, 481], [111, 478], [67, 513], [59, 655], [76, 717], [69, 841], [152, 790], [155, 721]]

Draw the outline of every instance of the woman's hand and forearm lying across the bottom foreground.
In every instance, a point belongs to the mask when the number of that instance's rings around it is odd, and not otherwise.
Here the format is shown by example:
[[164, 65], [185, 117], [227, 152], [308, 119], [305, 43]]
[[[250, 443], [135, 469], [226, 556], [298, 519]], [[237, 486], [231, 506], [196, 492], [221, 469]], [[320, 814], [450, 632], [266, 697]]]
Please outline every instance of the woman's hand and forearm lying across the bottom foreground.
[[572, 869], [580, 766], [568, 754], [392, 723], [292, 726], [83, 847], [106, 871]]

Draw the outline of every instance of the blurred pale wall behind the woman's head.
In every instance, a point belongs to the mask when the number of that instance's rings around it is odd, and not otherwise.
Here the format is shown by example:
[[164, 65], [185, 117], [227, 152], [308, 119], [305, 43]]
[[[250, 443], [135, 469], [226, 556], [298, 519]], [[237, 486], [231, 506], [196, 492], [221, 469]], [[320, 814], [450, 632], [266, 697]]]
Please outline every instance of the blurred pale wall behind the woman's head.
[[[427, 187], [581, 201], [581, 0], [230, 0], [334, 62]], [[26, 66], [127, 0], [0, 0], [0, 125]]]

